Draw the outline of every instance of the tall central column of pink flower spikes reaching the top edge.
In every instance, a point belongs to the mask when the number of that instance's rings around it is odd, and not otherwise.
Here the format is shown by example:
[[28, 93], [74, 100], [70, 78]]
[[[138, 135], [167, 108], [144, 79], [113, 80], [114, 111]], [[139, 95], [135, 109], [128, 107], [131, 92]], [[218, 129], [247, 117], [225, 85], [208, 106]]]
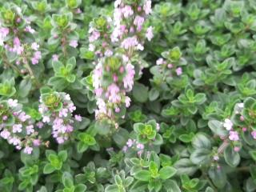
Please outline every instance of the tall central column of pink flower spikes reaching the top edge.
[[89, 50], [98, 55], [92, 74], [98, 105], [96, 118], [109, 118], [118, 127], [115, 118], [123, 117], [130, 106], [126, 93], [134, 86], [134, 54], [144, 50], [146, 38], [153, 38], [153, 27], [145, 27], [146, 16], [151, 12], [150, 1], [118, 0], [114, 6], [113, 19], [98, 18], [91, 23]]

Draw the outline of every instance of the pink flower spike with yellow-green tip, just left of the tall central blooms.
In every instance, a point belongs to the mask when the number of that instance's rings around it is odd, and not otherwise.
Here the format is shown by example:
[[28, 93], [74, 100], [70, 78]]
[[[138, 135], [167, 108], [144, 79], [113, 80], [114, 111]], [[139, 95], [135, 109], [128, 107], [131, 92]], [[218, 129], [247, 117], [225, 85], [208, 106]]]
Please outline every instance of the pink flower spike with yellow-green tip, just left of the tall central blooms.
[[[73, 112], [76, 109], [66, 93], [47, 92], [41, 95], [39, 112], [42, 122], [52, 126], [52, 135], [58, 143], [65, 142], [74, 130]], [[75, 120], [82, 121], [79, 115]]]

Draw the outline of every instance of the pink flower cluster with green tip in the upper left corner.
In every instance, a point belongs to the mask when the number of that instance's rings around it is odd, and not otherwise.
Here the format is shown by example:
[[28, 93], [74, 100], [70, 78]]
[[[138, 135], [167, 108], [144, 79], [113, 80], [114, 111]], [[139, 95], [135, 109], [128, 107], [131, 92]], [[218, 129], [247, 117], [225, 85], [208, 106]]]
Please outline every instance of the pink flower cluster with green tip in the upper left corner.
[[[3, 14], [0, 19], [0, 46], [5, 49], [2, 57], [14, 62], [6, 67], [31, 73], [29, 64], [36, 65], [42, 59], [40, 46], [33, 37], [36, 31], [30, 26], [30, 18], [23, 17], [20, 7], [10, 6], [4, 12], [8, 14]], [[24, 38], [24, 35], [28, 38]]]

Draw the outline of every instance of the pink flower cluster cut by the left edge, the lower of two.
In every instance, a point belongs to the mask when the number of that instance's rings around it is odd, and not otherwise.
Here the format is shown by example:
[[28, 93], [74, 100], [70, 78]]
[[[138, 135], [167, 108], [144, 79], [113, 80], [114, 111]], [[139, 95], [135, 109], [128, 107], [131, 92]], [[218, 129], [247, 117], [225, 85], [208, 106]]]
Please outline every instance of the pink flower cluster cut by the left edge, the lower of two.
[[34, 130], [34, 121], [22, 110], [17, 99], [8, 99], [0, 103], [0, 137], [14, 145], [17, 150], [31, 154], [33, 147], [40, 146], [38, 132]]

